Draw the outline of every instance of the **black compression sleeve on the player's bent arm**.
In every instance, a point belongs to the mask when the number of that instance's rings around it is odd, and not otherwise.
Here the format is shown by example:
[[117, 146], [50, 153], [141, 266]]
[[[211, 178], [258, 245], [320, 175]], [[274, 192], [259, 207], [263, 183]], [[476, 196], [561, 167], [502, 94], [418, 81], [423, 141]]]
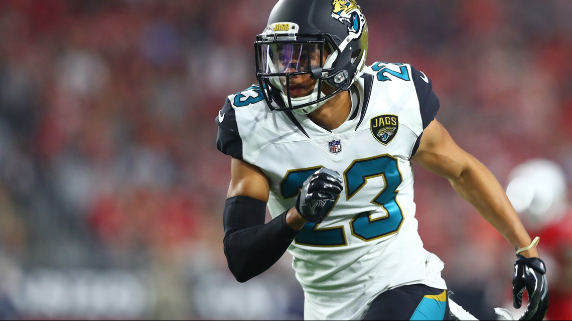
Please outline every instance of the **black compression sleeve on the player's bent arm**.
[[286, 212], [264, 224], [266, 203], [235, 196], [224, 207], [224, 254], [239, 282], [268, 270], [298, 234], [286, 223]]

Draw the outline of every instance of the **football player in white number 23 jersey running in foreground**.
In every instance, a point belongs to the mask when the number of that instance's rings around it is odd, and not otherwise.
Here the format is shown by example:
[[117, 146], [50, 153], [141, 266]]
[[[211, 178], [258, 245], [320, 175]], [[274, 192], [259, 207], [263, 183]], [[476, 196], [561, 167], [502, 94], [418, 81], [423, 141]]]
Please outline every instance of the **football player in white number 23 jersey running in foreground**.
[[436, 121], [424, 73], [365, 66], [368, 25], [354, 0], [280, 0], [255, 49], [259, 84], [230, 95], [216, 119], [217, 148], [232, 157], [224, 252], [239, 282], [288, 250], [305, 319], [451, 318], [443, 262], [414, 217], [415, 160], [517, 249], [514, 304], [526, 289], [522, 319], [543, 318], [545, 266], [503, 188]]

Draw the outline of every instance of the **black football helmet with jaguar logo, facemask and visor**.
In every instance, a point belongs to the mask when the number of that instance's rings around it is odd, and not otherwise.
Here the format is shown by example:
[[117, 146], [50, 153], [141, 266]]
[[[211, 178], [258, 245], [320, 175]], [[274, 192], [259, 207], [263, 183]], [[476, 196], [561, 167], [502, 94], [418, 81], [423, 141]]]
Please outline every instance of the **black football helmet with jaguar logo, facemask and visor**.
[[355, 0], [280, 0], [255, 42], [264, 99], [271, 110], [311, 113], [360, 77], [367, 46]]

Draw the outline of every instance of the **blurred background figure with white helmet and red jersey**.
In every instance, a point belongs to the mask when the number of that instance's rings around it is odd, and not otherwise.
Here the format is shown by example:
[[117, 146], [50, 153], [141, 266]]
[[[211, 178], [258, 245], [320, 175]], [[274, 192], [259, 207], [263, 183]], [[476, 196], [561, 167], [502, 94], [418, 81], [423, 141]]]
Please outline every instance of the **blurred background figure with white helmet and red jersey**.
[[549, 320], [572, 319], [572, 211], [562, 167], [546, 159], [519, 164], [509, 175], [507, 195], [530, 235], [541, 238], [550, 264]]

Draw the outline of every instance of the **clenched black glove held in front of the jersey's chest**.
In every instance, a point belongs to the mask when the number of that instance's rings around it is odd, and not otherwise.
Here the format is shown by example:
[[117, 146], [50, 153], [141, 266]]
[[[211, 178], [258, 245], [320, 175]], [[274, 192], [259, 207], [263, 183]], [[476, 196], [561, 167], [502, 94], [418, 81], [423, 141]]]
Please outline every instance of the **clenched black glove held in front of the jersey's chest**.
[[343, 186], [344, 180], [338, 172], [320, 168], [302, 185], [296, 210], [310, 222], [320, 223], [336, 202]]

